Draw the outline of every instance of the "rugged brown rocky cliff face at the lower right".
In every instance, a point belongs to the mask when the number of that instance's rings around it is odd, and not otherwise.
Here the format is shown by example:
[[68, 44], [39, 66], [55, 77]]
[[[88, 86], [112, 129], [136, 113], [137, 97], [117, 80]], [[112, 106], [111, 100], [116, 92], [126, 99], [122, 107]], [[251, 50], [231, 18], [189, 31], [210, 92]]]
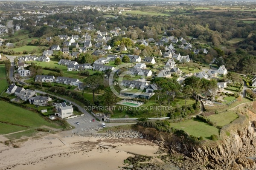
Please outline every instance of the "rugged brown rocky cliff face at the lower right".
[[193, 147], [191, 153], [184, 152], [184, 149], [180, 150], [188, 156], [181, 167], [189, 170], [197, 168], [256, 169], [255, 160], [248, 158], [256, 156], [256, 114], [252, 112], [256, 109], [252, 104], [247, 104], [237, 108], [236, 111], [239, 113], [239, 118], [222, 127], [220, 141]]

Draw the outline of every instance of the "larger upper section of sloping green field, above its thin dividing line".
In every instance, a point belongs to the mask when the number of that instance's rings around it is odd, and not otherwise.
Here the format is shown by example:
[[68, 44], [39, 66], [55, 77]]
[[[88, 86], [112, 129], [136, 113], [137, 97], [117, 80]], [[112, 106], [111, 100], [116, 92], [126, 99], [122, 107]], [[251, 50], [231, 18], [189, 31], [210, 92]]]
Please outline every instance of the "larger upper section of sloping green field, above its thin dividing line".
[[[28, 111], [18, 106], [12, 105], [8, 102], [0, 101], [0, 120], [9, 122], [15, 125], [28, 126], [30, 128], [49, 126], [59, 128], [59, 126], [52, 122], [47, 122], [38, 113]], [[1, 133], [0, 129], [0, 133]]]

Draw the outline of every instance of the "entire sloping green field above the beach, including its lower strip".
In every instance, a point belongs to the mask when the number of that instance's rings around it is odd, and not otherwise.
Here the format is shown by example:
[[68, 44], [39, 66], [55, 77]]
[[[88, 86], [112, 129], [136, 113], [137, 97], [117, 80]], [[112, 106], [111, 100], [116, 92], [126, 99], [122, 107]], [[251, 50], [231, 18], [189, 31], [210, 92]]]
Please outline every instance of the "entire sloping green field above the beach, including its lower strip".
[[38, 113], [28, 111], [18, 106], [12, 105], [8, 102], [0, 101], [0, 110], [0, 120], [10, 123], [6, 125], [1, 125], [1, 127], [8, 126], [9, 130], [6, 130], [5, 128], [0, 128], [0, 134], [12, 133], [20, 130], [32, 130], [35, 132], [34, 129], [41, 126], [60, 128], [57, 124], [44, 120], [41, 116], [39, 116]]

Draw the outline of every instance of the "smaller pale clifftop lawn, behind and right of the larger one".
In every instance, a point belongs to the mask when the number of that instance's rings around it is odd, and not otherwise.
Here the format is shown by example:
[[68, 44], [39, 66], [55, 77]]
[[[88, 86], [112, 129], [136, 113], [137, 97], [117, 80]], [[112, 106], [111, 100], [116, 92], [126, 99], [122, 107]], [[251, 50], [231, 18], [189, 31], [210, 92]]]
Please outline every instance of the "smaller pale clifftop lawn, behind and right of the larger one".
[[208, 118], [212, 122], [216, 122], [217, 126], [224, 126], [224, 125], [230, 124], [233, 120], [237, 119], [238, 117], [239, 116], [235, 112], [228, 111], [228, 112], [211, 115]]

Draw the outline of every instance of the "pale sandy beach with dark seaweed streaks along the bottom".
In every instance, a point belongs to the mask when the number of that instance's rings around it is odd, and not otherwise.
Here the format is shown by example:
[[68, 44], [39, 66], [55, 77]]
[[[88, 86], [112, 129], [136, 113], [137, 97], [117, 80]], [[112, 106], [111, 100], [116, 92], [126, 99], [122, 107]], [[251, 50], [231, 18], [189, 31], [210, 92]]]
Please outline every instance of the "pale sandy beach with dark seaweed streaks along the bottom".
[[30, 139], [19, 148], [0, 144], [0, 170], [7, 167], [12, 170], [119, 170], [125, 159], [134, 156], [131, 153], [153, 156], [153, 161], [160, 161], [154, 154], [157, 150], [158, 147], [146, 139], [63, 138], [55, 134]]

